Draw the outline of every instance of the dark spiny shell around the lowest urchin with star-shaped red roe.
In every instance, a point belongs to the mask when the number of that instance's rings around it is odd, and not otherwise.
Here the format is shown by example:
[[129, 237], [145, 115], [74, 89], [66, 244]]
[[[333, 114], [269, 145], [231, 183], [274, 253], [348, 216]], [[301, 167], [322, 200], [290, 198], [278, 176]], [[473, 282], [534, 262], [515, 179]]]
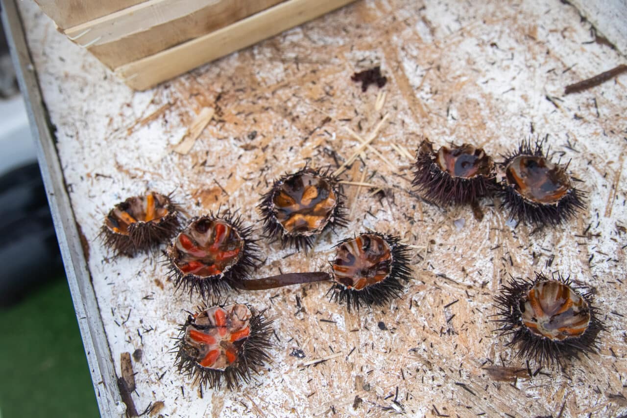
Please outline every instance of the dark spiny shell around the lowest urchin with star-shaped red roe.
[[[212, 304], [216, 305], [216, 303]], [[224, 305], [219, 305], [224, 307]], [[210, 305], [199, 307], [198, 312], [207, 309]], [[224, 370], [214, 370], [203, 367], [196, 360], [188, 357], [181, 349], [181, 344], [187, 325], [194, 322], [190, 314], [185, 324], [179, 325], [179, 336], [174, 346], [176, 360], [174, 366], [179, 373], [193, 379], [194, 384], [199, 384], [210, 389], [219, 388], [224, 380], [226, 387], [233, 390], [240, 387], [241, 382], [248, 383], [252, 379], [252, 374], [259, 374], [265, 362], [270, 361], [267, 350], [272, 347], [270, 336], [272, 335], [272, 321], [265, 319], [265, 311], [256, 313], [253, 308], [248, 307], [253, 316], [250, 319], [250, 335], [245, 340], [238, 354], [238, 359], [234, 364], [229, 365]]]

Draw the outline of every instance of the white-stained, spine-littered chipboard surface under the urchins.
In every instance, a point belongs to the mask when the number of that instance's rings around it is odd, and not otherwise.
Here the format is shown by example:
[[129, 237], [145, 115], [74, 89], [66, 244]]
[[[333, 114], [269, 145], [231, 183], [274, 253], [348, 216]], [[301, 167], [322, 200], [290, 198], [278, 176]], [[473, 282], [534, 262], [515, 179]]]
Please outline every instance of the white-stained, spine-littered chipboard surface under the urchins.
[[[144, 352], [134, 365], [137, 409], [163, 401], [159, 414], [192, 417], [627, 412], [625, 76], [562, 94], [624, 59], [589, 43], [590, 26], [571, 6], [544, 3], [361, 1], [144, 93], [115, 81], [21, 3], [116, 370], [122, 352]], [[350, 81], [372, 63], [388, 77], [379, 111], [377, 89], [362, 93]], [[203, 106], [216, 107], [218, 118], [189, 155], [177, 155], [174, 144]], [[192, 387], [167, 351], [184, 310], [200, 300], [174, 293], [157, 254], [108, 260], [97, 239], [105, 213], [145, 190], [176, 190], [193, 214], [229, 206], [259, 225], [255, 205], [273, 178], [305, 161], [334, 165], [334, 153], [341, 163], [358, 145], [346, 128], [366, 137], [384, 114], [372, 144], [396, 169], [365, 151], [365, 166], [358, 161], [344, 178], [385, 186], [387, 196], [347, 186], [347, 228], [320, 237], [308, 256], [263, 243], [266, 263], [256, 274], [325, 268], [334, 242], [373, 228], [416, 247], [403, 297], [349, 314], [327, 300], [327, 283], [231, 293], [277, 318], [274, 362], [238, 392]], [[409, 195], [410, 161], [392, 145], [414, 150], [428, 135], [498, 156], [545, 134], [554, 158], [572, 158], [573, 175], [585, 180], [588, 207], [564, 227], [533, 234], [508, 222], [498, 201], [485, 201], [477, 222], [468, 208], [441, 210]], [[533, 270], [571, 273], [596, 289], [610, 330], [599, 355], [564, 372], [496, 382], [482, 365], [526, 365], [492, 333], [492, 296], [508, 274]], [[295, 348], [305, 359], [289, 355]], [[341, 355], [298, 365], [334, 353]]]

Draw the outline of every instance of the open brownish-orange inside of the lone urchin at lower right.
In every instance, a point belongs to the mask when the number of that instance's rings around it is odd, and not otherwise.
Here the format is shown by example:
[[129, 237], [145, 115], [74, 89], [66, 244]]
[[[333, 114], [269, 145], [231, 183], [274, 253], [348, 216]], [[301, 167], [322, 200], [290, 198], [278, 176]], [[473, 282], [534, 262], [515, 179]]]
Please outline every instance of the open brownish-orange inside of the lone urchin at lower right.
[[584, 298], [561, 282], [538, 282], [520, 300], [522, 323], [534, 334], [551, 340], [586, 332], [590, 311]]

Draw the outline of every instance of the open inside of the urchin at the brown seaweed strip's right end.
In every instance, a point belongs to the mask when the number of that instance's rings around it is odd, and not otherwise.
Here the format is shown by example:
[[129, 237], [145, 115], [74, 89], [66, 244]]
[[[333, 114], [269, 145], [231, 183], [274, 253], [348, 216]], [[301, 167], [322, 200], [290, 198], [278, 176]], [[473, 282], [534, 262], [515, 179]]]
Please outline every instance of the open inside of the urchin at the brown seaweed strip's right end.
[[362, 290], [382, 282], [391, 269], [392, 253], [386, 240], [366, 233], [337, 248], [333, 277], [346, 288]]

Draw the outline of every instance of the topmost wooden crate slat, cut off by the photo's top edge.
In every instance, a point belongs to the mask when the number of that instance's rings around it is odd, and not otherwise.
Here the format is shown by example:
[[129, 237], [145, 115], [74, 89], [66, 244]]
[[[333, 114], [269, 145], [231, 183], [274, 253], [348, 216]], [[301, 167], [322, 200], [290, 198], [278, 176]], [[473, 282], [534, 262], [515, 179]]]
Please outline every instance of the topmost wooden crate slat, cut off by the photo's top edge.
[[35, 0], [43, 13], [55, 21], [61, 29], [101, 18], [107, 14], [130, 8], [145, 0]]

